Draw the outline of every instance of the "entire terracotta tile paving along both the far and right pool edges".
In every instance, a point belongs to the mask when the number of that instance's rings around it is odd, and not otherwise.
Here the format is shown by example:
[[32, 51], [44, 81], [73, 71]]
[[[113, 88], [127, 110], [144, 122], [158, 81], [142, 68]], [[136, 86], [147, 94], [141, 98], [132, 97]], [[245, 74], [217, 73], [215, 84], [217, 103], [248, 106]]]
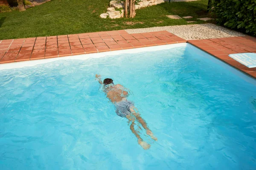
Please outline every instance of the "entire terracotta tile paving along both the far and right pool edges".
[[125, 30], [0, 40], [0, 64], [104, 51], [188, 42], [256, 79], [256, 68], [247, 68], [229, 54], [256, 53], [250, 36], [184, 40], [168, 31], [128, 34]]

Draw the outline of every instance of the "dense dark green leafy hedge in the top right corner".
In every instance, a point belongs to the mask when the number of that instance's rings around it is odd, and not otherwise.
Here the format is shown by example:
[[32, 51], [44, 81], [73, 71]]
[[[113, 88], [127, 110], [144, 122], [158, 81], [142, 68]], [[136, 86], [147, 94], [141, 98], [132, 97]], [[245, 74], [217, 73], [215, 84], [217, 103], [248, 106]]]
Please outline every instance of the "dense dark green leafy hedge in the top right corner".
[[217, 23], [256, 34], [256, 0], [212, 0]]

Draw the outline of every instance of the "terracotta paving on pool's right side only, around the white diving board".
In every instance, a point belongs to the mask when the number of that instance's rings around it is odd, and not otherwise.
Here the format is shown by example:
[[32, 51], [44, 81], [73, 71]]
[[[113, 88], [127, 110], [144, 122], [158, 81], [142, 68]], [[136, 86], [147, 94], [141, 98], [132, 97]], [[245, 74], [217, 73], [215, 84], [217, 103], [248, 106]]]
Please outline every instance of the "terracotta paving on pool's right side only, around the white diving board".
[[255, 37], [227, 37], [187, 42], [256, 79], [256, 68], [247, 68], [228, 56], [235, 53], [256, 53]]

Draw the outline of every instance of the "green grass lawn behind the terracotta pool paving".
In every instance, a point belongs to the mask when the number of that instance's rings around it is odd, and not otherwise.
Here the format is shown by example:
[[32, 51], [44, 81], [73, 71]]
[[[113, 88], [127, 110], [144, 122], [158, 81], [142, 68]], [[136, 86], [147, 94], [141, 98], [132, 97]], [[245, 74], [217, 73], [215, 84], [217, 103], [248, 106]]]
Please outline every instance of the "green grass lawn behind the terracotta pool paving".
[[109, 0], [52, 0], [23, 12], [0, 13], [0, 40], [187, 24], [166, 17], [170, 14], [207, 17], [201, 8], [180, 2], [138, 9], [134, 19], [100, 18], [108, 5]]

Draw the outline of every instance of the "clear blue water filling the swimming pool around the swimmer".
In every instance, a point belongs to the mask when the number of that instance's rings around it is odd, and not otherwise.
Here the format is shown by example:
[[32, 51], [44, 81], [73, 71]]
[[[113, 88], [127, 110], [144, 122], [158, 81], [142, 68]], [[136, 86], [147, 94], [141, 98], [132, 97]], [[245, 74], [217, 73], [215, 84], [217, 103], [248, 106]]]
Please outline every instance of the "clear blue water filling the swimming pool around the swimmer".
[[[130, 89], [143, 150], [95, 74]], [[0, 70], [0, 170], [256, 169], [256, 81], [191, 45]]]

